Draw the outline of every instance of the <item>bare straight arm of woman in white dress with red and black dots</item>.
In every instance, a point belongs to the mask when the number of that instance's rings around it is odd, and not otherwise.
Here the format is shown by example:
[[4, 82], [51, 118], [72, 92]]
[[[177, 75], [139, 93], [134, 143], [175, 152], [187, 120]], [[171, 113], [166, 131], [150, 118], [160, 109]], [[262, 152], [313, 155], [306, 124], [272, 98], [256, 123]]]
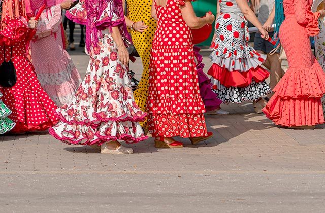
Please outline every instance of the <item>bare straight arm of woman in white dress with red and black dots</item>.
[[268, 39], [269, 33], [262, 27], [262, 24], [258, 21], [255, 13], [250, 9], [247, 1], [236, 0], [236, 3], [248, 21], [250, 21], [250, 23], [252, 23], [259, 30], [261, 37], [263, 39]]

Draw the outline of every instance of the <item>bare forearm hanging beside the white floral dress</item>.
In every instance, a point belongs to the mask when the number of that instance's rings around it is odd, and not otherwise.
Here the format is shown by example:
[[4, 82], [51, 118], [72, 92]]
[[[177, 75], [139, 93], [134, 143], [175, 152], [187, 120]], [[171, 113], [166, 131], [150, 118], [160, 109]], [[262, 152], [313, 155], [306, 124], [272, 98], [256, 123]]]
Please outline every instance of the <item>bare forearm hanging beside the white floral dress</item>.
[[120, 30], [117, 26], [112, 27], [111, 35], [118, 48], [118, 59], [123, 65], [127, 66], [130, 58], [128, 55], [128, 51], [125, 47], [124, 41], [121, 37]]

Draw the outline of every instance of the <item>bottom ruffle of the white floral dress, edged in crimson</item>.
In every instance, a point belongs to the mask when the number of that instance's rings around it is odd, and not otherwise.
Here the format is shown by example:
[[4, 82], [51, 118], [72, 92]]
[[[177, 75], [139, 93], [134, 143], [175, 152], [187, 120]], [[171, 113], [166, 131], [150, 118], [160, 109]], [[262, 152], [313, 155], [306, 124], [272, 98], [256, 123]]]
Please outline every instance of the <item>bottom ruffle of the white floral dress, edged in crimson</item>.
[[[115, 122], [111, 122], [110, 124], [104, 124], [104, 127], [94, 129], [85, 125], [67, 126], [66, 123], [61, 122], [57, 126], [50, 128], [49, 133], [56, 139], [61, 140], [63, 143], [74, 145], [97, 144], [101, 146], [102, 144], [111, 140], [123, 140], [127, 144], [134, 144], [148, 139], [148, 137], [144, 135], [140, 126], [138, 126], [138, 128], [136, 127], [135, 132], [131, 132], [132, 127], [129, 129], [125, 129], [124, 126], [121, 128], [121, 125], [114, 125], [113, 123]], [[113, 126], [117, 126], [116, 128], [118, 129], [118, 131], [123, 133], [115, 133], [115, 135], [112, 135]], [[60, 133], [57, 133], [56, 131]]]

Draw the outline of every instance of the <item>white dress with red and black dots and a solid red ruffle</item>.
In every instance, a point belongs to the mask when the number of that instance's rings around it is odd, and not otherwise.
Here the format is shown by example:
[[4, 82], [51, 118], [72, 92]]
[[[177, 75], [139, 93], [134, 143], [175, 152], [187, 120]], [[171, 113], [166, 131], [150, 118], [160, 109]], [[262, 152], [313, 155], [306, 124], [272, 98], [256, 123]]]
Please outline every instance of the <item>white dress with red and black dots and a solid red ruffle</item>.
[[236, 0], [219, 0], [220, 16], [215, 25], [216, 39], [210, 49], [213, 65], [208, 71], [214, 92], [223, 102], [257, 100], [270, 92], [264, 81], [269, 73], [261, 67], [266, 56], [248, 45], [247, 20]]

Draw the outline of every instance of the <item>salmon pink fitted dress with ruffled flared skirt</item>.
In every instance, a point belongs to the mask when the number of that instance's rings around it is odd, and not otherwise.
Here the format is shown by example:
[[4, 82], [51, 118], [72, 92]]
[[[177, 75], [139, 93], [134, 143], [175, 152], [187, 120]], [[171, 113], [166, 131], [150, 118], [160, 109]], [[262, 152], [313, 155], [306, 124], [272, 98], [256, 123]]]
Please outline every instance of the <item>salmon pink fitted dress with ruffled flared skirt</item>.
[[324, 123], [321, 98], [325, 74], [310, 47], [310, 36], [319, 33], [319, 13], [310, 0], [283, 0], [285, 20], [279, 36], [289, 69], [273, 89], [263, 112], [281, 126], [313, 126]]

